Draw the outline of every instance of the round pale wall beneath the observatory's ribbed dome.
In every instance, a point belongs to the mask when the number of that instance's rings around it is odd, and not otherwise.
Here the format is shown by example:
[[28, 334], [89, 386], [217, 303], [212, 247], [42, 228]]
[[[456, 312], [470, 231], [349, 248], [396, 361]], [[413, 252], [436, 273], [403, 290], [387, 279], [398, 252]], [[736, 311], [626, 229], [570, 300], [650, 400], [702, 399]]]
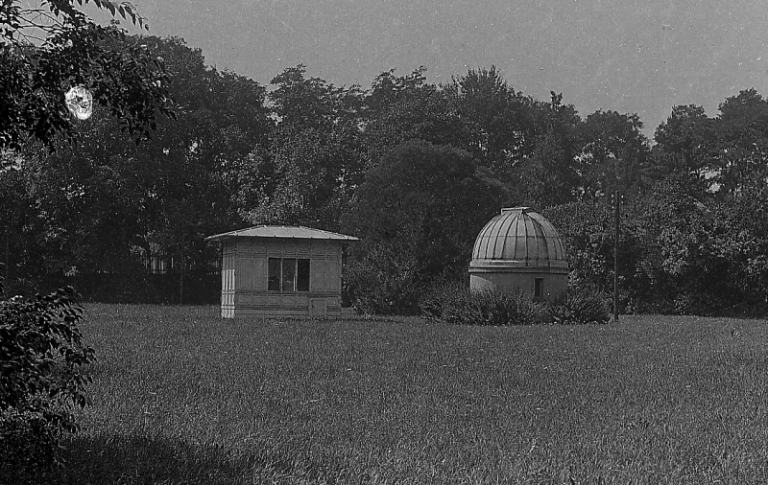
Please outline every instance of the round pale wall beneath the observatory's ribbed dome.
[[535, 269], [525, 272], [475, 272], [469, 276], [469, 288], [472, 291], [497, 290], [510, 294], [523, 292], [534, 296], [536, 279], [541, 280], [542, 299], [555, 300], [568, 290], [567, 273]]

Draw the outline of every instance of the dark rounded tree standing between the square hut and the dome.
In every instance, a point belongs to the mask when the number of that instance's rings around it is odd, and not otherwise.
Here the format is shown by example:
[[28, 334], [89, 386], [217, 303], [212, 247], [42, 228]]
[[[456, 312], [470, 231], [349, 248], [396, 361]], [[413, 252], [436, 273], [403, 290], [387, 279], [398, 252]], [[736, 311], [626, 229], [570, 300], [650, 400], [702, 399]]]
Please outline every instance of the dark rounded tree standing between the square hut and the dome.
[[342, 222], [361, 237], [347, 278], [358, 308], [412, 312], [427, 285], [464, 278], [499, 200], [465, 151], [415, 140], [393, 148], [366, 174]]

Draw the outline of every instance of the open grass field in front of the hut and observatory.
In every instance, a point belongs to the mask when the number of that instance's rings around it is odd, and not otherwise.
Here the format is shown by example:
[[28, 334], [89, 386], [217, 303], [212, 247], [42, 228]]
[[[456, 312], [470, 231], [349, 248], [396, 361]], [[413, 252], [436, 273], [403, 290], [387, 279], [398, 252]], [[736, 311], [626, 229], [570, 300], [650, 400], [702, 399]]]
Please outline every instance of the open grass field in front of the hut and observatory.
[[235, 321], [88, 306], [62, 483], [768, 483], [768, 325]]

